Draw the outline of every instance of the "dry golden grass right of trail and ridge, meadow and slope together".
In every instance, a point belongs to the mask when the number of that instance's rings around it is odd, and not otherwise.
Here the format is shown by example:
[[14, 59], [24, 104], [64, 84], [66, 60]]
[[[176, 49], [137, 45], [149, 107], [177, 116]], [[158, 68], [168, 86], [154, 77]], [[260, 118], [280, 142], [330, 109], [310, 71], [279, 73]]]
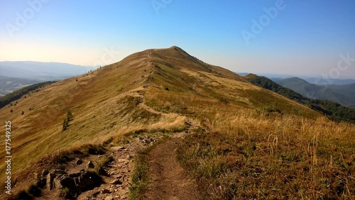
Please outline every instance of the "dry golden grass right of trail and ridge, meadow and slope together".
[[354, 125], [231, 76], [183, 63], [156, 71], [146, 104], [204, 125], [180, 149], [202, 199], [354, 198]]

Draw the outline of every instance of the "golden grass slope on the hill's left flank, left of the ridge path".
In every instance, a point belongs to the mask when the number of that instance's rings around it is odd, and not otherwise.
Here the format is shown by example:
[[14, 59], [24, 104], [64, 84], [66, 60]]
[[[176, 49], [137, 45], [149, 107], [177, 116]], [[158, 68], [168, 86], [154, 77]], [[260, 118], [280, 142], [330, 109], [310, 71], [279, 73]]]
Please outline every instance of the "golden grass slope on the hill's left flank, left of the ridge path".
[[[157, 123], [160, 116], [135, 105], [137, 92], [151, 72], [148, 55], [140, 52], [92, 73], [51, 84], [27, 95], [26, 99], [19, 99], [16, 106], [0, 109], [1, 121], [11, 121], [12, 124], [13, 181], [18, 172], [26, 170], [41, 157], [124, 135], [121, 128], [129, 124], [136, 127]], [[142, 78], [142, 75], [146, 77]], [[73, 121], [62, 132], [62, 121], [68, 109], [73, 114]], [[21, 115], [22, 111], [24, 115]], [[138, 120], [137, 115], [142, 119]], [[4, 128], [0, 127], [2, 133]], [[5, 134], [0, 135], [1, 140], [4, 137]], [[0, 179], [4, 179], [4, 143], [1, 147]], [[23, 189], [21, 187], [18, 183], [13, 191]]]

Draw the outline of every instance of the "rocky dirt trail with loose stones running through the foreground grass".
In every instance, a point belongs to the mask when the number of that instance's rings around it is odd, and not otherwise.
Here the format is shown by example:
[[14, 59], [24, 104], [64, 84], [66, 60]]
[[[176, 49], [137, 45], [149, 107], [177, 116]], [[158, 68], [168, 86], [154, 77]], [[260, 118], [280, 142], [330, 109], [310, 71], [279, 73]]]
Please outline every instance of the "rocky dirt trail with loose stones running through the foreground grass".
[[[155, 111], [143, 103], [143, 94], [136, 91], [137, 96], [142, 98], [138, 105], [152, 113]], [[176, 160], [176, 149], [181, 145], [185, 135], [192, 132], [193, 129], [200, 126], [198, 121], [187, 119], [187, 130], [181, 133], [173, 133], [169, 140], [156, 145], [148, 155], [148, 187], [144, 199], [196, 199], [195, 182], [190, 179]], [[136, 152], [142, 148], [147, 148], [158, 142], [163, 135], [137, 135], [134, 138], [126, 138], [123, 145], [117, 146], [110, 144], [106, 155], [90, 155], [82, 159], [82, 164], [77, 165], [74, 160], [65, 166], [65, 174], [80, 174], [87, 170], [88, 162], [93, 165], [99, 165], [104, 157], [111, 157], [109, 162], [103, 168], [102, 184], [88, 191], [84, 191], [77, 196], [77, 199], [128, 199], [129, 189], [131, 187], [131, 171], [133, 170]], [[55, 188], [55, 187], [54, 187]], [[46, 189], [43, 195], [36, 199], [62, 199], [59, 197], [60, 189]]]

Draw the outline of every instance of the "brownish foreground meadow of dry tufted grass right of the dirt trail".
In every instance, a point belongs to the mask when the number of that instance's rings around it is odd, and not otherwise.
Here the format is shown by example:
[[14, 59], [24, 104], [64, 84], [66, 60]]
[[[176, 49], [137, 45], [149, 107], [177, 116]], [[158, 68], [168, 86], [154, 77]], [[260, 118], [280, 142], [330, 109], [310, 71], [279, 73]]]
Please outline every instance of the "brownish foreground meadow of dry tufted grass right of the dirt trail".
[[215, 122], [178, 154], [203, 199], [354, 198], [354, 126], [253, 113]]

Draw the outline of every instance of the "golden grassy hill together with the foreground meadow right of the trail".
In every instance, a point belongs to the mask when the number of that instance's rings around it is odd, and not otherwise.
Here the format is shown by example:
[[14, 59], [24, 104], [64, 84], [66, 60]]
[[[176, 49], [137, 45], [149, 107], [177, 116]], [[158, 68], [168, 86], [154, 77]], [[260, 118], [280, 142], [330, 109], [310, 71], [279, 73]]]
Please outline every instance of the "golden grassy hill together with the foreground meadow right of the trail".
[[[62, 131], [68, 110], [73, 118]], [[320, 196], [316, 191], [329, 197], [354, 195], [349, 178], [354, 172], [349, 164], [355, 155], [353, 125], [333, 123], [175, 46], [137, 52], [50, 84], [19, 99], [16, 106], [0, 109], [0, 116], [13, 125], [15, 191], [34, 179], [23, 175], [37, 172], [36, 161], [42, 157], [111, 137], [116, 141], [135, 131], [183, 130], [186, 119], [193, 118], [201, 126], [186, 138], [180, 162], [197, 179], [202, 196], [308, 199]], [[4, 133], [4, 126], [0, 130]], [[2, 148], [1, 163], [4, 155]], [[329, 164], [329, 155], [334, 164]], [[325, 168], [329, 173], [324, 175], [321, 166], [330, 166]], [[4, 170], [1, 164], [1, 179]], [[293, 177], [285, 177], [286, 172]], [[291, 187], [295, 189], [285, 194]]]

